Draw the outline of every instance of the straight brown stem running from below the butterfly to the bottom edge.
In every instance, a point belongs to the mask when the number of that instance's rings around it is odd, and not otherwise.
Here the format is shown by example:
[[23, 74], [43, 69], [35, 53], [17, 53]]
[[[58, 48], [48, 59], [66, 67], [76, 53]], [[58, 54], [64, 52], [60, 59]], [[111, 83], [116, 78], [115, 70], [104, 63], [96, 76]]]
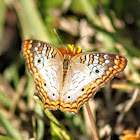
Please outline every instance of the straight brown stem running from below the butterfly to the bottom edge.
[[99, 136], [98, 136], [98, 132], [97, 132], [97, 129], [96, 129], [94, 117], [92, 115], [89, 103], [87, 102], [85, 104], [85, 106], [86, 106], [86, 109], [87, 109], [87, 112], [88, 112], [88, 116], [89, 116], [89, 119], [90, 119], [90, 122], [91, 122], [91, 128], [92, 128], [92, 134], [93, 134], [94, 140], [99, 140]]

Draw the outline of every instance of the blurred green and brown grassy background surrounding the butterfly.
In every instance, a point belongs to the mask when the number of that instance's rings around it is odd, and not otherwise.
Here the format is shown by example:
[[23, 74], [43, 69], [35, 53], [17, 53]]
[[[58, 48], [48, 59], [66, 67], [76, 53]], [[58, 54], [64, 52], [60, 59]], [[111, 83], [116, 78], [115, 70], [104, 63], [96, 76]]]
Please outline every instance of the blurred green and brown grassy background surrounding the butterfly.
[[89, 103], [101, 140], [138, 140], [140, 0], [0, 0], [0, 140], [92, 139], [84, 106], [78, 115], [50, 112], [33, 99], [21, 43], [38, 39], [61, 47], [53, 29], [65, 46], [128, 59]]

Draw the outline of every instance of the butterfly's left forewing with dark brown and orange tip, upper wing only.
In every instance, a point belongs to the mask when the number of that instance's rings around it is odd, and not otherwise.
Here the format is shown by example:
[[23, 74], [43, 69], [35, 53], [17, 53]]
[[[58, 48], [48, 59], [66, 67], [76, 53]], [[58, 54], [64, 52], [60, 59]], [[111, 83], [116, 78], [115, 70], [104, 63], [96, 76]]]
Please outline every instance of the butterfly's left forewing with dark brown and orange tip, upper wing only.
[[52, 65], [52, 60], [55, 63], [62, 58], [62, 54], [56, 47], [39, 40], [25, 40], [22, 43], [22, 52], [32, 75], [37, 74], [43, 67]]

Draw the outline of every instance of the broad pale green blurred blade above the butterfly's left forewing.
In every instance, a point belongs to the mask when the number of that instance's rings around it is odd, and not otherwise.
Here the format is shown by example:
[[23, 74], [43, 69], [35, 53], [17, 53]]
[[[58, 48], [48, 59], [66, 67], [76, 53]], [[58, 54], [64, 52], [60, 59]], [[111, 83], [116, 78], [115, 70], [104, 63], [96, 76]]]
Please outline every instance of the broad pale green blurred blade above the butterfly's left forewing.
[[23, 39], [51, 42], [48, 30], [33, 0], [19, 0], [13, 5], [19, 17]]

